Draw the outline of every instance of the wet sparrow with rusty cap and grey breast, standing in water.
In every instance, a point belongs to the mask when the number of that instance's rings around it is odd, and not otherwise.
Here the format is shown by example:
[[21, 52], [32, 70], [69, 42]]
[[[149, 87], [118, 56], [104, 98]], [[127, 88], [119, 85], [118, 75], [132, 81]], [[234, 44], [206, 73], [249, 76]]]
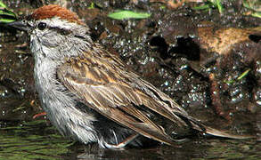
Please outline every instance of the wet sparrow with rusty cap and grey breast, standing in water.
[[8, 25], [29, 34], [41, 106], [63, 136], [110, 149], [143, 148], [154, 142], [176, 146], [184, 140], [184, 131], [249, 138], [188, 115], [116, 54], [94, 43], [90, 28], [75, 12], [49, 4]]

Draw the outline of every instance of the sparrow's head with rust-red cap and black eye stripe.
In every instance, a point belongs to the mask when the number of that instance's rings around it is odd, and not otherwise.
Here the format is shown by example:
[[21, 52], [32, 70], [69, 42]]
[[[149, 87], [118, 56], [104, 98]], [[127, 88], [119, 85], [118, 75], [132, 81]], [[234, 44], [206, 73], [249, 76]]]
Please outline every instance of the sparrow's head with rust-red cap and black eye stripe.
[[28, 32], [31, 51], [52, 60], [79, 56], [92, 44], [89, 28], [77, 14], [55, 4], [38, 8], [9, 26]]

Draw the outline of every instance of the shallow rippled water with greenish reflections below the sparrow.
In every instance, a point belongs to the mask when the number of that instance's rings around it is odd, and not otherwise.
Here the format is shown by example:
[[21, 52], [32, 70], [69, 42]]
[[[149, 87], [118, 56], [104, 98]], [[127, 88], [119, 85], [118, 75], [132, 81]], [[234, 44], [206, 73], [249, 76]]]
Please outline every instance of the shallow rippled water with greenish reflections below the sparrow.
[[180, 148], [108, 150], [64, 139], [45, 120], [0, 122], [0, 159], [257, 159], [260, 146], [256, 140], [200, 139], [185, 142]]

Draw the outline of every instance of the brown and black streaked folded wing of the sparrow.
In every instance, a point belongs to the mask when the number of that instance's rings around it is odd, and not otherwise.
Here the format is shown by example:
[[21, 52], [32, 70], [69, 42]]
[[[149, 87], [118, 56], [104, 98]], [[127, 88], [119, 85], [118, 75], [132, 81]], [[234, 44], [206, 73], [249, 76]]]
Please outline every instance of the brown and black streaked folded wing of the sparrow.
[[[92, 59], [92, 60], [91, 60]], [[154, 124], [141, 110], [145, 107], [165, 116], [177, 124], [185, 124], [174, 112], [182, 115], [184, 110], [151, 84], [143, 81], [115, 57], [75, 58], [67, 60], [57, 70], [58, 78], [70, 92], [103, 116], [122, 124], [146, 137], [173, 144], [162, 127]], [[164, 102], [166, 101], [166, 102]]]

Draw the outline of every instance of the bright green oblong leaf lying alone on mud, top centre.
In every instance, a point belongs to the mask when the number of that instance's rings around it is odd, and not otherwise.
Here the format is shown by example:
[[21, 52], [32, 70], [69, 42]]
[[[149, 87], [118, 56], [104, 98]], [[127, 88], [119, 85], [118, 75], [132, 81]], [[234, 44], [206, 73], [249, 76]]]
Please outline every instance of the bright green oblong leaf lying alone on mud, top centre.
[[147, 12], [132, 12], [132, 11], [118, 11], [118, 12], [112, 12], [108, 15], [110, 19], [114, 19], [114, 20], [146, 19], [150, 16], [151, 14]]

